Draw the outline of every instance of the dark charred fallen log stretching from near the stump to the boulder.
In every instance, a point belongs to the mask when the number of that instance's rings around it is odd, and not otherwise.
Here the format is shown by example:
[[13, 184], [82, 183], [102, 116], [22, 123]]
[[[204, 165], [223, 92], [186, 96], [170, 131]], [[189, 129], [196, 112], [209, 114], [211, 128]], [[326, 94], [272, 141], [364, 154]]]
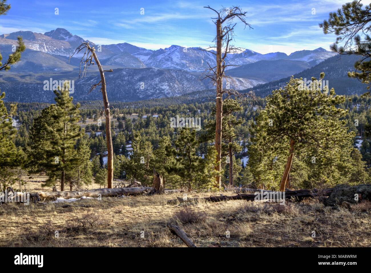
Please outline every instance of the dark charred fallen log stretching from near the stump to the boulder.
[[[292, 198], [294, 196], [299, 198], [304, 197], [315, 197], [315, 196], [329, 196], [334, 188], [324, 189], [324, 190], [309, 190], [309, 189], [299, 189], [296, 191], [285, 191], [285, 198]], [[270, 191], [263, 191], [263, 192], [270, 192]], [[259, 193], [260, 194], [260, 193]], [[181, 198], [172, 199], [167, 201], [168, 204], [177, 204], [177, 202], [197, 202], [199, 200], [209, 201], [209, 202], [220, 202], [220, 201], [228, 201], [228, 200], [246, 200], [246, 201], [254, 201], [255, 194], [239, 194], [239, 195], [221, 195], [221, 196], [210, 196], [204, 198], [187, 198], [185, 200]], [[267, 194], [267, 200], [269, 200], [270, 195]]]

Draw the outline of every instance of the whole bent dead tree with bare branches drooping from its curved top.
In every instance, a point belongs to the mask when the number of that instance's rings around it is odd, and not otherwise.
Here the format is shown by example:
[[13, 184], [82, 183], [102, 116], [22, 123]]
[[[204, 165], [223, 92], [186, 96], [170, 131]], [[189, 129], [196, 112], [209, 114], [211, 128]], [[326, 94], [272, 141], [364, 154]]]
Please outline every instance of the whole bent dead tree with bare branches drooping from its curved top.
[[[98, 57], [95, 53], [94, 46], [91, 47], [89, 45], [89, 42], [83, 42], [81, 45], [79, 45], [75, 52], [70, 56], [70, 59], [73, 55], [77, 55], [78, 53], [83, 52], [83, 55], [81, 57], [80, 61], [80, 72], [79, 72], [79, 78], [84, 77], [86, 75], [86, 70], [88, 69], [89, 65], [94, 65], [93, 59], [96, 62], [99, 73], [101, 74], [101, 81], [99, 81], [97, 84], [93, 84], [90, 88], [90, 91], [93, 91], [96, 87], [101, 86], [101, 92], [103, 96], [103, 104], [104, 104], [104, 114], [105, 114], [105, 120], [106, 120], [106, 141], [107, 141], [107, 151], [108, 151], [108, 160], [107, 160], [107, 187], [112, 188], [112, 181], [114, 177], [114, 168], [113, 168], [113, 161], [114, 161], [114, 155], [113, 155], [113, 147], [112, 147], [112, 136], [111, 136], [111, 114], [109, 111], [109, 103], [108, 103], [108, 97], [107, 97], [107, 90], [106, 90], [106, 79], [104, 77], [104, 72], [113, 72], [112, 69], [110, 70], [103, 70], [103, 67], [101, 63], [99, 62]], [[81, 66], [83, 65], [83, 69], [81, 71]]]

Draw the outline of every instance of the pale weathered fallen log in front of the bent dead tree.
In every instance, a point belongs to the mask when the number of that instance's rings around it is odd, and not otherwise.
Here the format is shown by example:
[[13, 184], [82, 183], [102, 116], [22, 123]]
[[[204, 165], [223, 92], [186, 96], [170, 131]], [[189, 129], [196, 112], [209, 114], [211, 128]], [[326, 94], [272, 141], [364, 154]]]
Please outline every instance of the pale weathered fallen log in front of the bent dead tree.
[[143, 194], [143, 192], [151, 190], [150, 187], [132, 187], [132, 188], [113, 188], [113, 189], [89, 189], [86, 191], [59, 191], [59, 192], [44, 192], [39, 191], [41, 199], [54, 199], [57, 197], [68, 198], [81, 198], [86, 197], [99, 197], [99, 196], [121, 196], [121, 195], [138, 195]]

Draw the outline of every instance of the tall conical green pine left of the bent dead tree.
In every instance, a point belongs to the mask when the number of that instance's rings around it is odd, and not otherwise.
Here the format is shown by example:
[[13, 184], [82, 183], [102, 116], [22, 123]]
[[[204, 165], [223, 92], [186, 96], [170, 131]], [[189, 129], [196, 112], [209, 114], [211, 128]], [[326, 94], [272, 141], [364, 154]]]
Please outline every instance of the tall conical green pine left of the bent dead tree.
[[44, 186], [54, 185], [60, 179], [60, 190], [63, 191], [66, 172], [78, 162], [74, 145], [83, 131], [76, 124], [80, 119], [80, 105], [72, 103], [67, 83], [53, 92], [56, 104], [45, 108], [33, 124], [30, 154], [34, 166], [45, 170], [49, 176]]

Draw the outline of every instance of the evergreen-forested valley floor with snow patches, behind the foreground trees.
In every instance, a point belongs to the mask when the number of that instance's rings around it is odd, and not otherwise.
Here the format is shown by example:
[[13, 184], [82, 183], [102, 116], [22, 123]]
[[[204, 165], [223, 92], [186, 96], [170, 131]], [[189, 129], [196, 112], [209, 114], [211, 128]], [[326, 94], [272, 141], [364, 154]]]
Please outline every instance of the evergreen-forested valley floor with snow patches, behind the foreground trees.
[[[194, 156], [201, 158], [207, 154], [208, 147], [213, 142], [210, 139], [210, 132], [207, 129], [210, 126], [210, 122], [212, 123], [213, 121], [213, 103], [211, 101], [204, 103], [190, 103], [188, 101], [185, 103], [185, 101], [179, 100], [179, 98], [180, 97], [167, 98], [166, 100], [151, 100], [151, 103], [148, 101], [137, 101], [132, 103], [112, 102], [112, 113], [114, 118], [112, 130], [114, 132], [113, 142], [116, 154], [116, 178], [130, 179], [135, 177], [138, 181], [144, 183], [144, 185], [151, 185], [152, 167], [156, 169], [164, 168], [164, 166], [158, 165], [158, 160], [156, 160], [156, 158], [158, 156], [166, 156], [165, 150], [163, 149], [165, 149], [167, 144], [174, 145], [179, 141], [178, 134], [182, 131], [181, 128], [171, 128], [169, 123], [171, 117], [176, 117], [177, 115], [201, 118], [202, 129], [196, 131], [197, 142], [193, 143]], [[196, 100], [197, 98], [194, 99]], [[191, 99], [188, 98], [188, 100]], [[236, 126], [236, 139], [233, 140], [235, 143], [238, 143], [239, 146], [236, 148], [234, 154], [236, 157], [236, 160], [234, 160], [234, 171], [236, 184], [240, 186], [262, 186], [259, 185], [259, 183], [257, 184], [256, 176], [258, 173], [256, 169], [252, 168], [252, 166], [250, 168], [249, 166], [248, 147], [252, 144], [250, 139], [252, 130], [250, 127], [251, 122], [255, 120], [260, 111], [265, 108], [265, 104], [266, 101], [263, 98], [249, 100], [243, 104], [241, 110], [234, 113], [237, 120], [244, 120], [242, 124]], [[349, 113], [342, 119], [346, 122], [345, 125], [348, 127], [348, 132], [355, 132], [357, 138], [354, 137], [352, 139], [352, 144], [360, 151], [359, 160], [363, 160], [368, 166], [370, 166], [371, 159], [371, 140], [365, 136], [365, 131], [370, 130], [367, 125], [371, 122], [369, 111], [370, 104], [370, 98], [352, 96], [347, 97], [344, 103], [338, 105], [339, 108], [349, 110]], [[7, 105], [10, 107], [10, 104]], [[18, 105], [18, 112], [15, 117], [18, 130], [14, 137], [14, 143], [25, 152], [30, 150], [30, 145], [32, 143], [32, 140], [30, 140], [30, 133], [32, 128], [36, 125], [35, 122], [37, 122], [41, 110], [45, 107], [47, 107], [47, 104], [20, 103]], [[81, 102], [79, 112], [81, 116], [79, 125], [81, 129], [85, 131], [83, 139], [85, 139], [89, 145], [89, 159], [94, 163], [99, 162], [98, 159], [100, 158], [100, 163], [98, 166], [95, 165], [94, 168], [96, 168], [96, 170], [104, 168], [103, 158], [105, 157], [107, 148], [105, 144], [104, 118], [101, 117], [101, 102], [83, 101]], [[102, 122], [98, 125], [98, 119], [100, 118], [102, 118]], [[354, 120], [356, 119], [359, 121], [358, 126], [354, 125]], [[76, 145], [78, 145], [78, 143]], [[137, 150], [133, 151], [133, 147], [137, 147]], [[134, 155], [138, 153], [136, 157], [131, 156], [133, 152]], [[159, 153], [162, 154], [160, 155]], [[148, 166], [135, 162], [135, 160], [140, 159], [139, 155], [150, 155], [148, 158]], [[224, 157], [226, 155], [226, 152], [224, 152]], [[168, 160], [170, 160], [171, 156], [168, 156]], [[283, 158], [284, 157], [282, 157], [282, 159]], [[295, 165], [291, 173], [293, 181], [292, 186], [318, 186], [318, 183], [321, 181], [311, 179], [314, 173], [311, 174], [310, 169], [306, 170], [306, 172], [308, 172], [306, 175], [303, 174], [303, 167], [296, 172], [296, 164], [302, 166], [304, 163], [302, 162], [303, 159], [300, 157], [297, 157], [296, 160], [299, 161], [294, 162]], [[358, 161], [357, 164], [362, 165], [364, 163]], [[131, 166], [131, 164], [134, 164], [134, 169], [128, 167]], [[250, 164], [252, 164], [252, 162], [250, 162]], [[272, 173], [272, 177], [266, 177], [266, 182], [264, 182], [266, 187], [273, 186], [273, 188], [277, 188], [278, 180], [280, 175], [282, 175], [282, 164], [283, 162], [279, 160], [274, 161], [273, 169], [275, 171]], [[229, 164], [223, 162], [222, 165], [224, 169], [223, 181], [227, 183], [229, 178]], [[93, 173], [96, 172], [97, 171], [93, 171]], [[316, 170], [315, 172], [318, 171]], [[7, 173], [7, 175], [9, 175], [9, 173]], [[167, 178], [167, 186], [172, 185], [174, 188], [180, 186], [178, 181], [181, 179], [170, 174], [169, 176], [165, 174], [165, 177]], [[4, 179], [8, 182], [3, 182], [3, 186], [12, 185], [17, 181], [15, 177], [14, 180], [9, 180], [9, 176], [3, 177], [2, 181], [5, 181]], [[344, 182], [350, 182], [346, 180], [348, 178], [344, 177], [344, 179]], [[326, 183], [328, 183], [328, 185], [333, 185], [334, 183], [338, 183], [336, 181], [337, 180], [330, 179]], [[73, 183], [73, 181], [70, 183]], [[204, 185], [197, 185], [200, 188], [204, 187]]]

